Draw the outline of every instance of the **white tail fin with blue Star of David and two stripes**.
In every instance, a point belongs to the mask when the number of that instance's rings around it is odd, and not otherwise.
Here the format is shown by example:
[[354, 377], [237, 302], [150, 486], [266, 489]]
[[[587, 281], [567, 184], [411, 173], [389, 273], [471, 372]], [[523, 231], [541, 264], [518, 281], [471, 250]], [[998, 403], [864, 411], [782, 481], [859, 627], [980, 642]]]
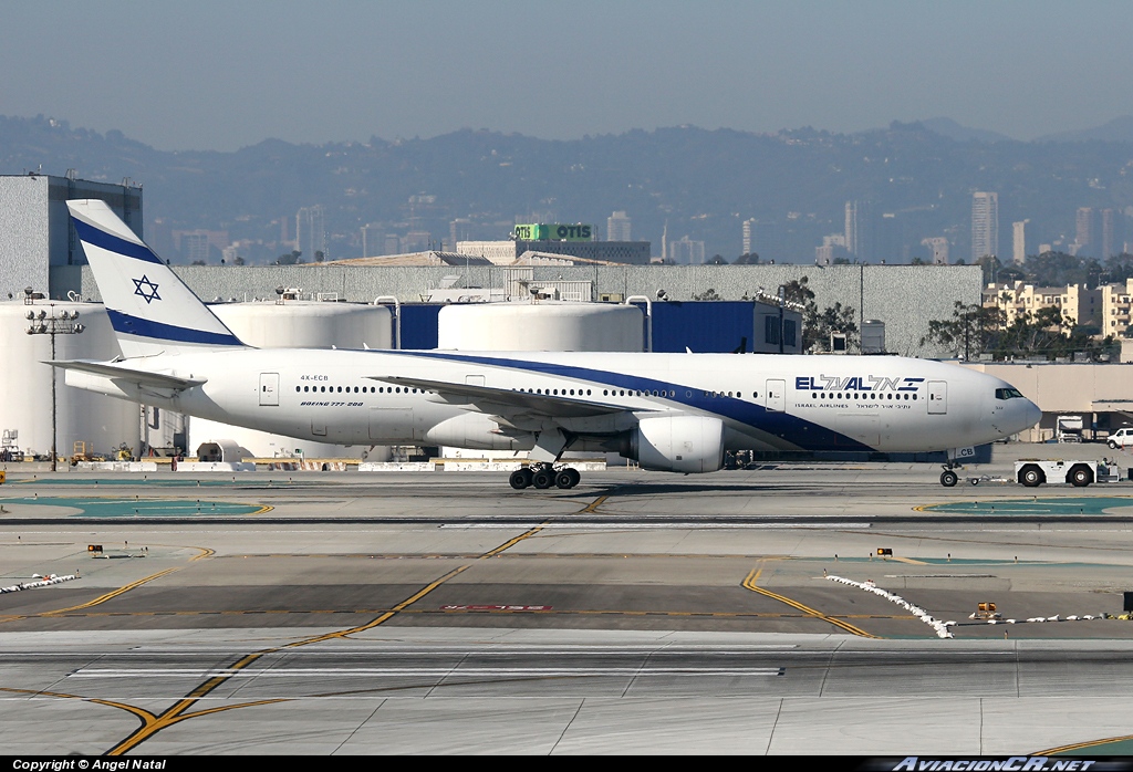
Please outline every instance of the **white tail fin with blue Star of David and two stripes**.
[[105, 201], [67, 201], [94, 281], [126, 357], [245, 344]]

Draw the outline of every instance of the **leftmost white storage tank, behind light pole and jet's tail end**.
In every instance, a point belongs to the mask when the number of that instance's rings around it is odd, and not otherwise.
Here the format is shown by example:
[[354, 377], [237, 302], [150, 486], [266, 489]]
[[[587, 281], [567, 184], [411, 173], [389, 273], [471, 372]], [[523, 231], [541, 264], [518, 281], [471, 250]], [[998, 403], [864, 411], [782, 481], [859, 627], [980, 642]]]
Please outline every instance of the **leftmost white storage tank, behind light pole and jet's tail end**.
[[[31, 314], [33, 319], [28, 319]], [[63, 319], [63, 315], [67, 319]], [[74, 315], [77, 314], [77, 317]], [[42, 318], [41, 318], [42, 315]], [[56, 318], [54, 325], [51, 318]], [[74, 318], [71, 318], [74, 317]], [[28, 334], [34, 325], [42, 333]], [[79, 334], [63, 331], [82, 325]], [[51, 334], [52, 326], [59, 331]], [[100, 303], [34, 300], [0, 303], [0, 429], [18, 432], [14, 443], [28, 457], [51, 454], [51, 381], [56, 380], [56, 448], [70, 456], [76, 443], [87, 454], [110, 456], [125, 444], [139, 452], [140, 409], [130, 402], [70, 388], [52, 359], [109, 360], [118, 342]]]

